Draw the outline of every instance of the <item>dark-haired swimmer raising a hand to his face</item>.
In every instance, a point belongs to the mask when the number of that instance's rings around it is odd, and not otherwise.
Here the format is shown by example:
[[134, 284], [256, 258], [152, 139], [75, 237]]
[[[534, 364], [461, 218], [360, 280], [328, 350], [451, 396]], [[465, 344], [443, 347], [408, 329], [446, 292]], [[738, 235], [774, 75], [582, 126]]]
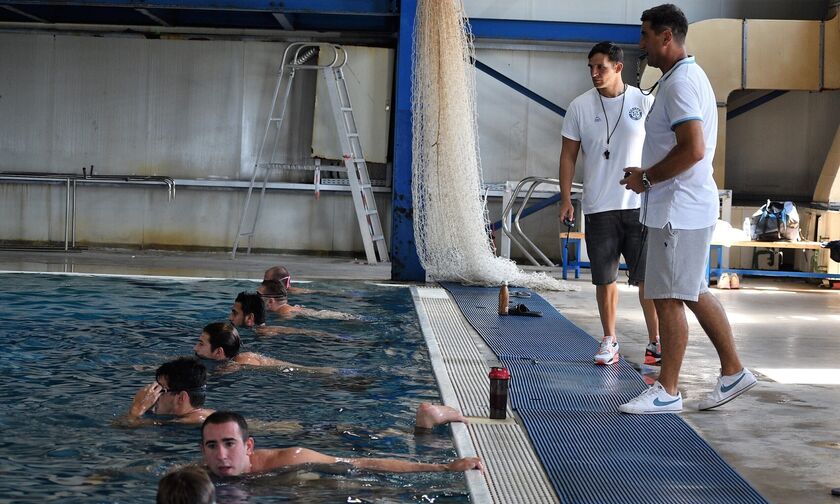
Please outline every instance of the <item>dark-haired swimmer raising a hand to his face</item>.
[[[165, 362], [155, 372], [155, 382], [134, 395], [128, 413], [118, 423], [152, 425], [161, 423], [200, 424], [213, 413], [202, 408], [207, 393], [207, 368], [194, 357]], [[172, 415], [168, 421], [142, 418], [146, 412]]]

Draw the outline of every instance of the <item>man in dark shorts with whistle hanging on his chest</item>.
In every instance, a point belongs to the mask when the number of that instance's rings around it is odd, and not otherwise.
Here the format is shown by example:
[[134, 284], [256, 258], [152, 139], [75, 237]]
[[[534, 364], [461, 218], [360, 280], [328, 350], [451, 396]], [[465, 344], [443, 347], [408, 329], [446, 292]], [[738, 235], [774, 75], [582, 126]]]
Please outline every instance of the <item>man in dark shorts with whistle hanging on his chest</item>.
[[644, 299], [645, 257], [639, 196], [622, 189], [618, 181], [624, 167], [638, 164], [645, 137], [644, 118], [652, 97], [628, 86], [621, 78], [624, 51], [611, 42], [599, 42], [589, 51], [593, 88], [572, 100], [563, 121], [560, 152], [561, 219], [574, 219], [572, 179], [578, 153], [583, 154], [583, 201], [586, 249], [592, 265], [595, 300], [604, 330], [595, 364], [619, 360], [615, 327], [618, 311], [619, 259], [630, 268], [630, 285], [639, 287], [639, 302], [648, 329], [645, 363], [659, 364], [659, 325], [653, 302]]

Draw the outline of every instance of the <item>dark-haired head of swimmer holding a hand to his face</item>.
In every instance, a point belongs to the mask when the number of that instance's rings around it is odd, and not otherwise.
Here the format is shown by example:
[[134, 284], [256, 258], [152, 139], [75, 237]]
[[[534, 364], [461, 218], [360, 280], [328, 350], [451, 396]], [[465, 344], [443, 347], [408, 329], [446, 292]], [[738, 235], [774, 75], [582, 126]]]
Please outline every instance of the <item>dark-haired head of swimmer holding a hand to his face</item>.
[[179, 415], [204, 405], [207, 397], [207, 368], [194, 357], [165, 362], [155, 373], [163, 389], [153, 407], [158, 415]]

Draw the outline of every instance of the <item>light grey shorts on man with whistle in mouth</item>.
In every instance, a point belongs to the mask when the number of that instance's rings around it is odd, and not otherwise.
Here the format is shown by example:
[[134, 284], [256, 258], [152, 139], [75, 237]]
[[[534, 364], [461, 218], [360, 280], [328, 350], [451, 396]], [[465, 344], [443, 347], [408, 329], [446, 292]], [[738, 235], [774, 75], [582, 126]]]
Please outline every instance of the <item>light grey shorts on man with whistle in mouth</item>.
[[646, 299], [697, 301], [709, 291], [706, 261], [714, 229], [648, 228], [647, 262], [656, 267], [645, 275]]

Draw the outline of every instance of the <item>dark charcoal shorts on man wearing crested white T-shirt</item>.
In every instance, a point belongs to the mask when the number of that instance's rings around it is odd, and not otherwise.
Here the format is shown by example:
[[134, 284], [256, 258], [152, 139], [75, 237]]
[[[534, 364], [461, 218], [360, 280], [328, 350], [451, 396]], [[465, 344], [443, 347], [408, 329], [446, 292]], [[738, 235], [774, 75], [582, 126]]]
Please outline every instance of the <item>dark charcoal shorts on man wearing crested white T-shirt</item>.
[[609, 285], [618, 278], [621, 256], [630, 269], [630, 285], [645, 279], [645, 251], [639, 210], [610, 210], [586, 215], [586, 250], [592, 283]]

